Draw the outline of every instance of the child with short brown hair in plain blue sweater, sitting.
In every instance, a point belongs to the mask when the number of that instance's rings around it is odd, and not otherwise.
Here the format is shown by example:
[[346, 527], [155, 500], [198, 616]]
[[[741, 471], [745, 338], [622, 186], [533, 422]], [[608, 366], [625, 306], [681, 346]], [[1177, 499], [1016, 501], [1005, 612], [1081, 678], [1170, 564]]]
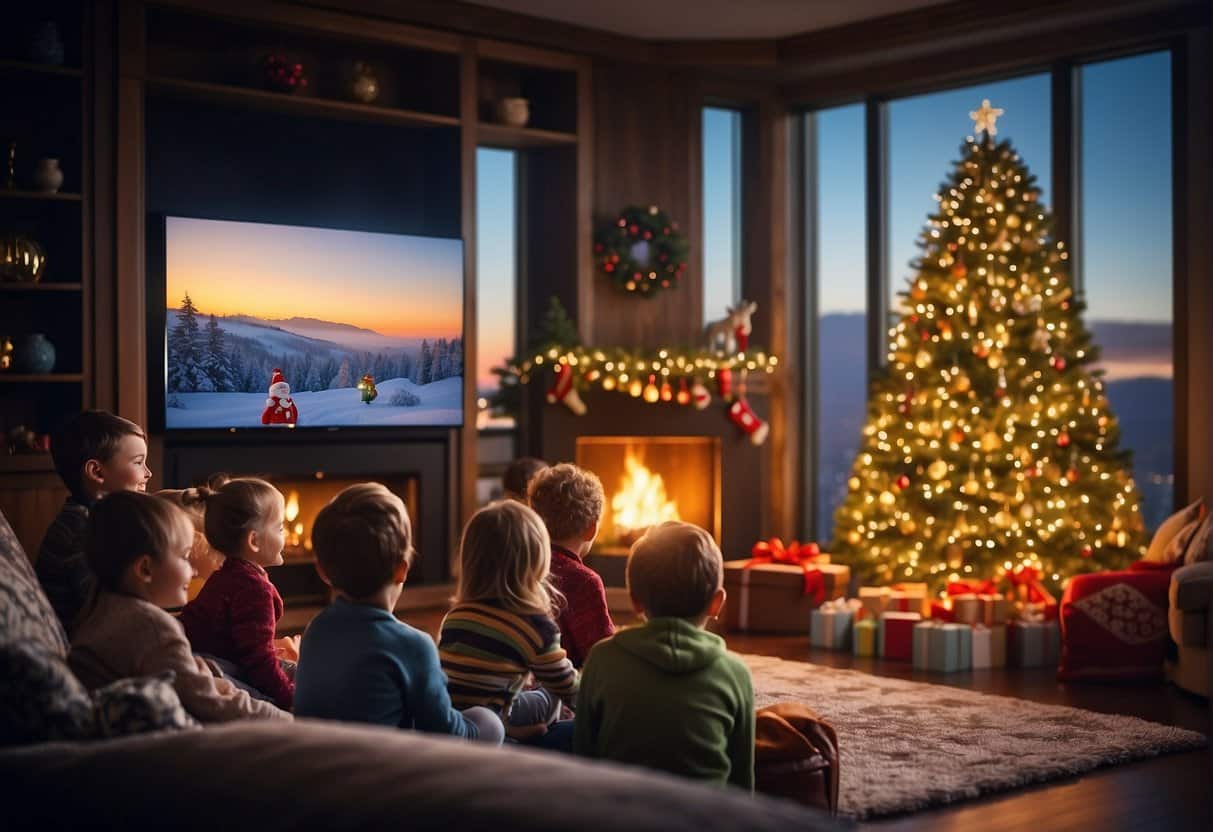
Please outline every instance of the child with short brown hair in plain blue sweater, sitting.
[[496, 714], [452, 708], [434, 643], [392, 614], [412, 560], [400, 497], [351, 485], [320, 509], [312, 545], [337, 597], [303, 634], [295, 712], [500, 743]]

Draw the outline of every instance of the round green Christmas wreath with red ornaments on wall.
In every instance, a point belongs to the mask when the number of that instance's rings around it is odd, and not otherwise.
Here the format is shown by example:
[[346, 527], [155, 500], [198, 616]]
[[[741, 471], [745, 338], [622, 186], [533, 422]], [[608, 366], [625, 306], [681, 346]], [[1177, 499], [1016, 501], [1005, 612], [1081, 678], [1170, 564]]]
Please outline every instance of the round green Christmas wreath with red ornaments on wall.
[[687, 238], [656, 205], [628, 205], [594, 239], [594, 263], [626, 292], [653, 297], [687, 273]]

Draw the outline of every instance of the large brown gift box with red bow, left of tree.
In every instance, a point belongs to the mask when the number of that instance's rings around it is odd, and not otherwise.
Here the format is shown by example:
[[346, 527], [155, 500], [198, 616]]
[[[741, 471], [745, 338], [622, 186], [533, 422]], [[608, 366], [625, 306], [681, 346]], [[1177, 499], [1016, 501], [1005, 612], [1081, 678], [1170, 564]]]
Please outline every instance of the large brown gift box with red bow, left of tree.
[[[795, 564], [728, 560], [724, 564], [724, 625], [730, 631], [804, 633], [820, 602], [841, 598], [850, 581], [850, 568], [816, 564], [824, 598], [805, 592], [804, 568]], [[815, 580], [815, 579], [814, 579]]]

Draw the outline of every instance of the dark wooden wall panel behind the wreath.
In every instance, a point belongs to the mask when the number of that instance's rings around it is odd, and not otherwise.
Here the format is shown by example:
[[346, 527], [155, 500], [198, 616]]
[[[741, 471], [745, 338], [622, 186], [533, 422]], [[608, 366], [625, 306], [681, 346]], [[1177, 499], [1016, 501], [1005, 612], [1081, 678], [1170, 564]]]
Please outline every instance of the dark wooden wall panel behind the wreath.
[[626, 295], [592, 277], [597, 344], [694, 344], [701, 332], [699, 216], [699, 95], [693, 76], [662, 67], [597, 62], [594, 89], [593, 220], [626, 205], [659, 205], [690, 241], [690, 277], [655, 298]]

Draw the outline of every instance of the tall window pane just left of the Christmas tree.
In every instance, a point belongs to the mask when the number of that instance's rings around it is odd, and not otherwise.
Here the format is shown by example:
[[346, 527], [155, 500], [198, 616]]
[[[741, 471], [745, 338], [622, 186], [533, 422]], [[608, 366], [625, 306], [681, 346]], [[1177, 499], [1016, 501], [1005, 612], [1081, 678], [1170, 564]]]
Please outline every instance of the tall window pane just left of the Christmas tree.
[[[809, 116], [808, 149], [816, 169], [815, 193], [805, 212], [815, 240], [815, 364], [805, 389], [816, 387], [816, 477], [813, 511], [816, 536], [830, 540], [833, 514], [847, 496], [860, 431], [867, 415], [867, 257], [864, 239], [864, 106]], [[810, 366], [807, 361], [805, 366]]]

